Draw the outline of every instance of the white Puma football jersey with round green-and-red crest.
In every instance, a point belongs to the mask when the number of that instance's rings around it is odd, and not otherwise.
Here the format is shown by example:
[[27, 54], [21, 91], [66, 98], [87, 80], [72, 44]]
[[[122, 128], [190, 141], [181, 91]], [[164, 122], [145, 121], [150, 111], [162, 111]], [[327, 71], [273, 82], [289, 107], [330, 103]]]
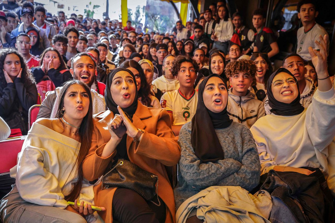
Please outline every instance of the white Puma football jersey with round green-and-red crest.
[[198, 93], [193, 92], [190, 98], [185, 98], [180, 89], [166, 92], [160, 98], [160, 105], [173, 114], [172, 125], [184, 125], [193, 118], [198, 104]]

